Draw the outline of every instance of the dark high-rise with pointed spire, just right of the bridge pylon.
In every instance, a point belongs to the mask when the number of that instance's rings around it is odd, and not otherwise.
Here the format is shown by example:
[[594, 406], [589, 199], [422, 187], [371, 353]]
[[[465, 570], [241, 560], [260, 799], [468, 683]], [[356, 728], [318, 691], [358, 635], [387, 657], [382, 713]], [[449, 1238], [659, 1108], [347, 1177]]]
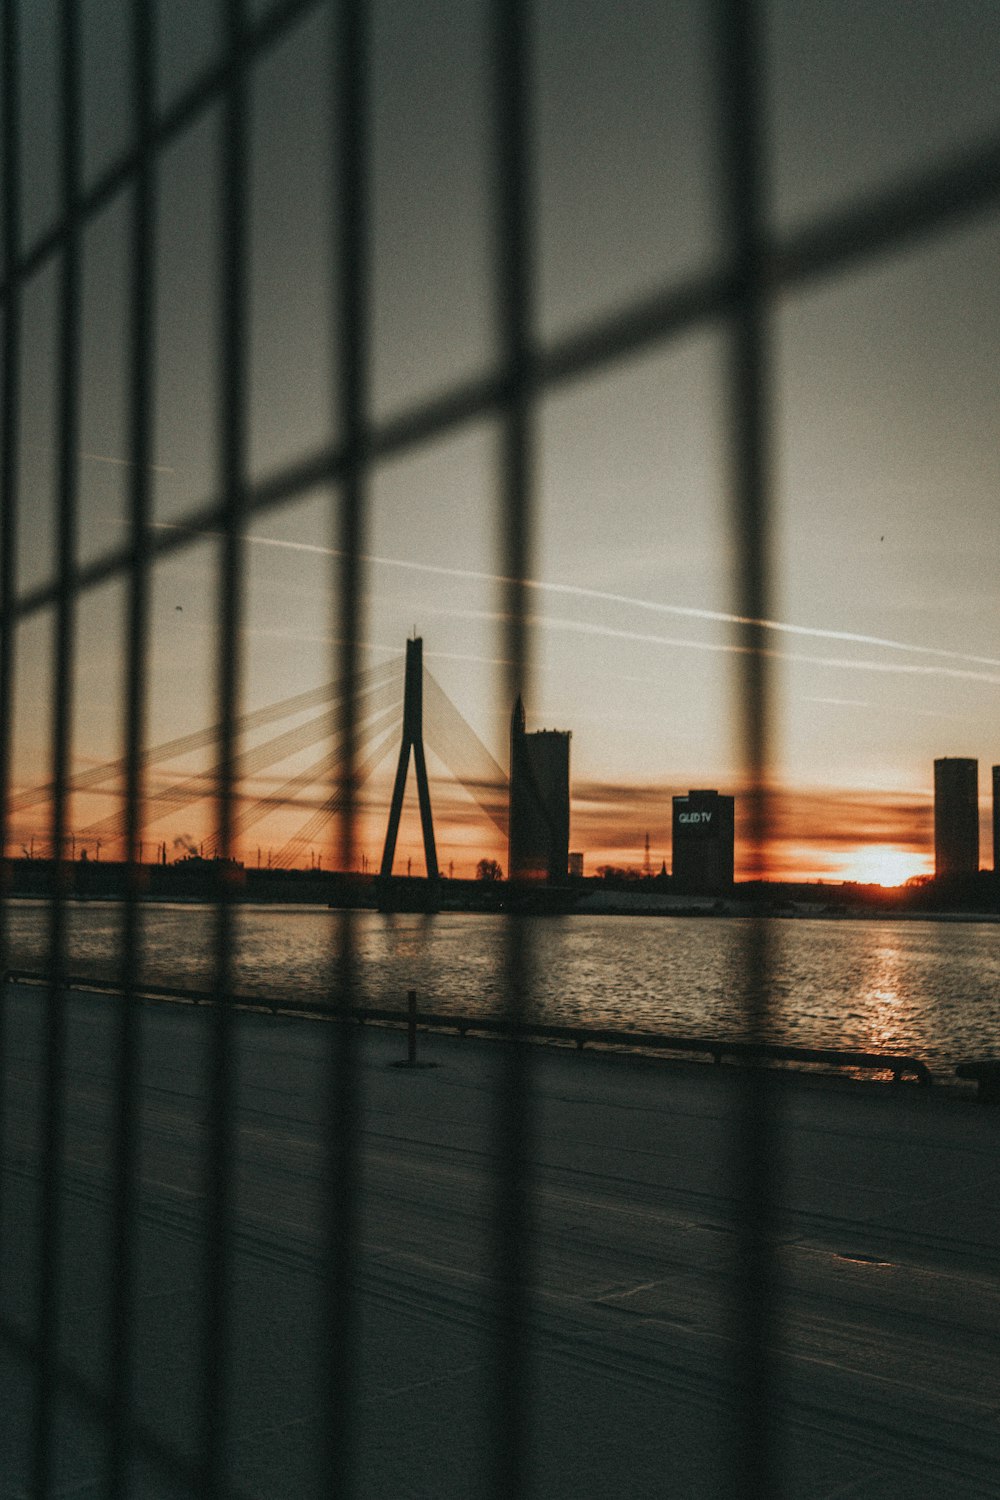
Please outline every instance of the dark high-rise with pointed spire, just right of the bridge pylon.
[[570, 864], [570, 735], [525, 729], [525, 705], [510, 722], [511, 880], [564, 882]]

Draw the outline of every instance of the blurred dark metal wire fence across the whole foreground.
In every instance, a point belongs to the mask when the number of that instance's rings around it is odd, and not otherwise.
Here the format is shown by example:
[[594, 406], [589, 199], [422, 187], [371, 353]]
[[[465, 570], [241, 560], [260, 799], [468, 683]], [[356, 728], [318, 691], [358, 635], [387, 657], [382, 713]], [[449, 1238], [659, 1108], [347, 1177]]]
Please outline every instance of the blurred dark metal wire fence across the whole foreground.
[[[322, 0], [285, 0], [265, 18], [250, 22], [243, 0], [226, 0], [225, 45], [220, 62], [199, 78], [166, 111], [153, 108], [156, 74], [153, 12], [147, 0], [132, 4], [132, 105], [133, 147], [100, 180], [81, 190], [79, 162], [79, 15], [75, 0], [60, 3], [60, 158], [61, 207], [54, 230], [31, 246], [21, 246], [21, 122], [19, 4], [3, 0], [3, 454], [0, 468], [0, 848], [7, 846], [7, 795], [10, 783], [10, 711], [18, 622], [51, 610], [54, 632], [54, 680], [51, 747], [54, 770], [52, 846], [64, 846], [70, 765], [70, 724], [75, 674], [76, 604], [90, 590], [109, 579], [127, 582], [127, 639], [124, 668], [124, 786], [127, 810], [129, 878], [124, 892], [121, 981], [124, 1002], [118, 1010], [117, 1036], [117, 1142], [114, 1161], [115, 1216], [114, 1266], [118, 1296], [114, 1300], [111, 1347], [114, 1350], [108, 1400], [84, 1386], [57, 1358], [58, 1293], [58, 1200], [60, 1148], [63, 1131], [64, 1014], [60, 980], [66, 972], [66, 906], [57, 890], [49, 904], [49, 990], [46, 999], [45, 1074], [45, 1172], [42, 1263], [39, 1266], [40, 1323], [37, 1340], [24, 1340], [16, 1329], [0, 1330], [9, 1344], [27, 1356], [36, 1378], [36, 1425], [33, 1434], [33, 1480], [37, 1494], [51, 1490], [52, 1420], [57, 1386], [70, 1390], [81, 1406], [108, 1428], [108, 1492], [127, 1492], [133, 1449], [142, 1450], [165, 1472], [196, 1486], [202, 1494], [228, 1492], [225, 1473], [225, 1419], [229, 1370], [226, 1364], [226, 1292], [229, 1262], [226, 1244], [231, 1220], [232, 1160], [232, 1023], [225, 998], [232, 993], [232, 904], [225, 882], [217, 891], [216, 993], [223, 999], [214, 1011], [213, 1088], [210, 1118], [210, 1215], [205, 1232], [207, 1293], [202, 1317], [202, 1440], [198, 1462], [165, 1448], [142, 1431], [129, 1410], [132, 1360], [132, 1294], [135, 1275], [135, 1182], [136, 1095], [139, 1088], [138, 1006], [130, 1005], [132, 976], [139, 951], [138, 849], [142, 802], [142, 742], [147, 711], [145, 666], [148, 658], [148, 592], [157, 560], [190, 546], [198, 538], [220, 536], [217, 718], [220, 732], [220, 790], [217, 801], [219, 849], [231, 848], [235, 772], [235, 722], [238, 684], [238, 639], [243, 598], [240, 588], [243, 534], [255, 513], [282, 506], [316, 483], [336, 486], [337, 550], [331, 576], [339, 600], [337, 674], [352, 684], [345, 723], [346, 798], [340, 814], [339, 849], [343, 868], [354, 862], [358, 684], [358, 622], [361, 600], [361, 554], [366, 531], [369, 480], [385, 458], [414, 450], [445, 432], [475, 423], [486, 414], [501, 420], [499, 495], [505, 530], [502, 567], [507, 585], [505, 658], [510, 662], [508, 690], [525, 681], [531, 666], [523, 579], [531, 576], [534, 526], [534, 423], [538, 402], [564, 381], [577, 380], [613, 362], [634, 358], [651, 345], [661, 345], [706, 322], [721, 322], [729, 334], [727, 434], [730, 447], [732, 530], [744, 561], [739, 582], [739, 614], [747, 620], [768, 618], [769, 542], [768, 516], [771, 386], [768, 372], [768, 322], [775, 300], [792, 288], [822, 278], [837, 278], [858, 262], [900, 250], [903, 246], [946, 231], [963, 219], [996, 212], [1000, 204], [1000, 138], [957, 156], [943, 166], [930, 166], [906, 183], [859, 201], [846, 210], [784, 238], [768, 228], [765, 152], [762, 144], [763, 100], [757, 80], [763, 76], [760, 16], [754, 0], [715, 0], [717, 28], [717, 130], [720, 183], [726, 220], [727, 258], [711, 270], [660, 294], [637, 302], [624, 312], [597, 320], [570, 336], [538, 348], [532, 336], [532, 231], [529, 98], [531, 8], [528, 0], [493, 3], [493, 212], [496, 216], [495, 312], [499, 330], [496, 368], [463, 381], [432, 400], [376, 424], [369, 416], [369, 164], [366, 116], [369, 102], [369, 34], [364, 0], [336, 0], [334, 80], [339, 108], [339, 166], [331, 195], [339, 207], [340, 237], [336, 268], [339, 278], [337, 411], [333, 426], [343, 440], [304, 456], [283, 472], [250, 483], [246, 464], [246, 198], [247, 198], [247, 87], [258, 57], [268, 52], [303, 16]], [[156, 240], [156, 168], [168, 144], [189, 130], [213, 105], [223, 106], [223, 309], [219, 350], [222, 402], [222, 490], [183, 528], [150, 531], [148, 459], [151, 453], [153, 390], [153, 280]], [[130, 405], [129, 444], [132, 477], [129, 489], [129, 542], [117, 554], [81, 567], [76, 562], [78, 496], [75, 453], [79, 408], [79, 320], [81, 237], [84, 226], [118, 195], [132, 204], [130, 308]], [[60, 274], [58, 345], [58, 560], [49, 584], [19, 594], [16, 588], [16, 543], [21, 524], [18, 496], [18, 448], [21, 418], [22, 296], [30, 278], [46, 264]], [[742, 627], [742, 738], [747, 783], [751, 788], [751, 844], [763, 861], [768, 852], [769, 807], [766, 796], [768, 736], [771, 728], [768, 657], [760, 630]], [[508, 698], [513, 696], [508, 692]], [[0, 966], [6, 954], [6, 904], [0, 900]], [[351, 912], [345, 912], [337, 951], [331, 956], [331, 988], [343, 1008], [349, 1006], [355, 940]], [[750, 928], [741, 975], [750, 1034], [762, 1034], [768, 1017], [768, 927]], [[508, 927], [505, 987], [508, 1017], [523, 1020], [531, 994], [531, 954]], [[0, 1028], [4, 1008], [0, 1005]], [[4, 1041], [0, 1030], [0, 1042]], [[495, 1473], [498, 1492], [523, 1491], [528, 1480], [529, 1386], [526, 1318], [531, 1281], [531, 1071], [526, 1044], [507, 1050], [507, 1072], [496, 1101], [496, 1142], [502, 1158], [495, 1204], [495, 1256], [501, 1287], [496, 1320]], [[331, 1028], [328, 1173], [328, 1406], [334, 1414], [328, 1437], [328, 1478], [336, 1494], [351, 1492], [354, 1468], [351, 1419], [357, 1328], [354, 1274], [358, 1224], [357, 1148], [360, 1140], [360, 1084], [354, 1028]], [[0, 1095], [0, 1154], [4, 1146], [4, 1101]], [[748, 1072], [733, 1172], [744, 1188], [741, 1264], [742, 1290], [735, 1293], [736, 1330], [735, 1422], [732, 1462], [733, 1492], [777, 1492], [772, 1380], [765, 1364], [768, 1328], [775, 1316], [774, 1263], [769, 1252], [774, 1144], [780, 1132], [775, 1101], [766, 1074]], [[0, 1202], [0, 1233], [3, 1203]], [[742, 1476], [742, 1478], [739, 1478]]]

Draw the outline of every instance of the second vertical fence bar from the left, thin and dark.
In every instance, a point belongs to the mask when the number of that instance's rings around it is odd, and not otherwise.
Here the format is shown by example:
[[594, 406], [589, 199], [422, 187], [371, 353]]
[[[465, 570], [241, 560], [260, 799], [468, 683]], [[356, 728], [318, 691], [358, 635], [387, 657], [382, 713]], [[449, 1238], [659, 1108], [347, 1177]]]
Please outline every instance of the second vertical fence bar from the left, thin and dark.
[[76, 194], [79, 188], [79, 34], [78, 4], [60, 4], [60, 214], [72, 226], [63, 242], [58, 300], [58, 498], [55, 660], [52, 672], [52, 868], [49, 900], [46, 1044], [42, 1077], [42, 1184], [39, 1252], [39, 1362], [34, 1392], [33, 1492], [51, 1491], [55, 1443], [57, 1353], [60, 1305], [61, 1152], [66, 1119], [63, 1095], [66, 1060], [66, 900], [61, 861], [66, 854], [70, 736], [73, 717], [73, 657], [76, 638], [76, 466], [79, 448], [79, 318], [81, 266]]

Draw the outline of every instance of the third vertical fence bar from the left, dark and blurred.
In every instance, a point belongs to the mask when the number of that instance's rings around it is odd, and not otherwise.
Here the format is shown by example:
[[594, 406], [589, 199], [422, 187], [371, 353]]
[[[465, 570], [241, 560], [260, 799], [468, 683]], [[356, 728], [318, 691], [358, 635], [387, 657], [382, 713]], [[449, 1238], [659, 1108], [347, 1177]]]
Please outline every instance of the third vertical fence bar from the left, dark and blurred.
[[111, 1306], [111, 1426], [108, 1432], [108, 1494], [129, 1492], [130, 1382], [135, 1323], [135, 1212], [138, 1206], [138, 1100], [141, 1092], [141, 1010], [136, 982], [141, 968], [141, 836], [147, 711], [148, 597], [151, 507], [150, 460], [153, 418], [153, 244], [154, 178], [151, 135], [153, 24], [148, 0], [132, 6], [132, 111], [139, 166], [132, 204], [132, 324], [129, 351], [130, 486], [129, 486], [129, 604], [124, 642], [124, 804], [126, 890], [121, 933], [121, 1005], [115, 1059], [114, 1228]]

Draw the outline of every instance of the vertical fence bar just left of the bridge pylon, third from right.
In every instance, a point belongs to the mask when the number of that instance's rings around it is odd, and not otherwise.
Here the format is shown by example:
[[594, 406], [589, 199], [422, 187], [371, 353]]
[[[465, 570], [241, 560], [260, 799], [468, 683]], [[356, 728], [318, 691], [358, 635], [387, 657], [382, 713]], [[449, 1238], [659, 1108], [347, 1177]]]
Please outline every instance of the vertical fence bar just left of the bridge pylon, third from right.
[[[357, 852], [358, 776], [358, 636], [363, 608], [363, 543], [369, 489], [369, 26], [366, 0], [339, 0], [334, 8], [333, 68], [336, 80], [336, 130], [339, 138], [334, 182], [336, 244], [339, 254], [339, 420], [343, 468], [336, 544], [340, 552], [334, 574], [340, 639], [334, 675], [345, 686], [343, 800], [337, 828], [337, 864], [354, 868]], [[336, 418], [334, 412], [334, 418]], [[339, 670], [337, 670], [339, 669]], [[334, 1005], [346, 1014], [354, 1000], [357, 951], [354, 914], [345, 908], [337, 922], [334, 957]], [[355, 1490], [358, 1452], [358, 1330], [357, 1330], [357, 1238], [360, 1224], [360, 1053], [355, 1028], [331, 1029], [330, 1122], [327, 1160], [327, 1431], [325, 1470], [321, 1492], [349, 1497]]]

